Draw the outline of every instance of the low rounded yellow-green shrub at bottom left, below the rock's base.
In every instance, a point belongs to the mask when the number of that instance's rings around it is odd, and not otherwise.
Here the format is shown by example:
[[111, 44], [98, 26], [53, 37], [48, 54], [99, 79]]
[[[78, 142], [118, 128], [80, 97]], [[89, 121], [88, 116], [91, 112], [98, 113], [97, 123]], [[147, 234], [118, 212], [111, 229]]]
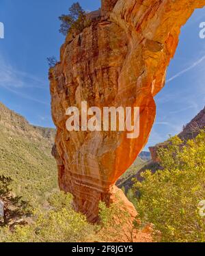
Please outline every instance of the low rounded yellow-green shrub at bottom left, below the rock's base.
[[84, 242], [92, 226], [85, 216], [61, 209], [39, 214], [33, 225], [17, 227], [4, 242]]

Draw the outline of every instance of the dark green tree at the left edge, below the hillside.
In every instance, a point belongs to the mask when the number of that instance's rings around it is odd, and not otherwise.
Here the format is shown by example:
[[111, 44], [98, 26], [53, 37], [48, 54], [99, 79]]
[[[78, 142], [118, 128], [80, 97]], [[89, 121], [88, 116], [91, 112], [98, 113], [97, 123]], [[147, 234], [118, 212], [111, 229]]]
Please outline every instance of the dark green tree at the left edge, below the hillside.
[[22, 197], [15, 196], [11, 188], [12, 179], [0, 176], [0, 200], [4, 205], [4, 216], [0, 218], [0, 227], [25, 224], [23, 217], [31, 215], [31, 207]]

